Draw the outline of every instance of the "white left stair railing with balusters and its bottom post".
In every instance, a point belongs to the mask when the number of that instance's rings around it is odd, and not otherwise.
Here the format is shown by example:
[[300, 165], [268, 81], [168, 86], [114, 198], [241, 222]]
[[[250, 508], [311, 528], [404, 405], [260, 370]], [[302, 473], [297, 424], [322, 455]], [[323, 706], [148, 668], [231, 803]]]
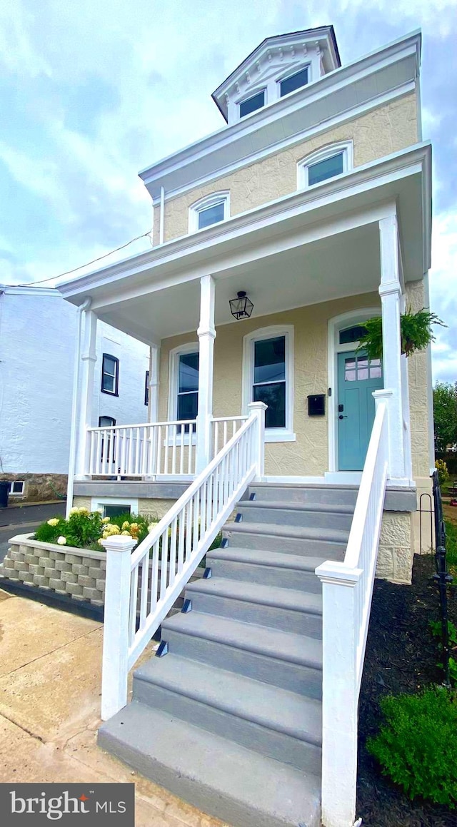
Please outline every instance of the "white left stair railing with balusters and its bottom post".
[[184, 589], [234, 505], [263, 476], [265, 409], [249, 418], [131, 554], [131, 538], [103, 541], [107, 571], [102, 718], [127, 703], [127, 673]]

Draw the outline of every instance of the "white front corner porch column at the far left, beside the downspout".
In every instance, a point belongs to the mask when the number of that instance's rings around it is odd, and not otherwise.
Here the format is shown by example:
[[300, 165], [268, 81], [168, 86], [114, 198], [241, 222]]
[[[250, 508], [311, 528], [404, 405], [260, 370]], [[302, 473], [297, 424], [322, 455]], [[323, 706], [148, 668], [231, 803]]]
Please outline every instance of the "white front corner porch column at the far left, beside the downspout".
[[83, 347], [81, 350], [81, 381], [79, 385], [78, 437], [76, 444], [75, 479], [89, 479], [89, 439], [87, 429], [92, 424], [94, 399], [94, 370], [97, 361], [97, 317], [93, 310], [84, 311]]

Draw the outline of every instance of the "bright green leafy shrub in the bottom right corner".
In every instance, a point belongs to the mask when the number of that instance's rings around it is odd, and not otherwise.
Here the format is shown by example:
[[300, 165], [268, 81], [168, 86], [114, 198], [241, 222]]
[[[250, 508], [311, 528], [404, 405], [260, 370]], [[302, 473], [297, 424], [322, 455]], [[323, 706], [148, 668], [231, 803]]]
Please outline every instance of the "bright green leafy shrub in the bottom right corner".
[[381, 700], [385, 723], [368, 752], [410, 799], [457, 807], [457, 698], [440, 686]]

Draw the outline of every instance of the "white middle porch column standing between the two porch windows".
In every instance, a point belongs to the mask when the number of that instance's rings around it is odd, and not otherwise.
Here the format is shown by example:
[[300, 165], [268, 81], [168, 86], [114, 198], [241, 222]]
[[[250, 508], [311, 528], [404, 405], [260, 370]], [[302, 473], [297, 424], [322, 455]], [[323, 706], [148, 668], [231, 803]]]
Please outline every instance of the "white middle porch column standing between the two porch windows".
[[211, 417], [213, 416], [213, 354], [216, 330], [214, 327], [214, 278], [200, 279], [200, 325], [197, 330], [200, 344], [199, 408], [197, 418], [196, 472], [200, 474], [211, 457]]

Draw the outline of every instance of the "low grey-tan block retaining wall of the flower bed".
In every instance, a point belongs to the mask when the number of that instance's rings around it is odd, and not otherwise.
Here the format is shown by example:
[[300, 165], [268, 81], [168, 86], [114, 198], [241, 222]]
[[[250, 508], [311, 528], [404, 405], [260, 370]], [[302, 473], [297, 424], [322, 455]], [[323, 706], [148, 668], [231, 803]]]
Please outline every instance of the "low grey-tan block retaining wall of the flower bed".
[[103, 606], [106, 554], [86, 548], [39, 543], [26, 534], [13, 537], [0, 565], [2, 578], [56, 595]]

